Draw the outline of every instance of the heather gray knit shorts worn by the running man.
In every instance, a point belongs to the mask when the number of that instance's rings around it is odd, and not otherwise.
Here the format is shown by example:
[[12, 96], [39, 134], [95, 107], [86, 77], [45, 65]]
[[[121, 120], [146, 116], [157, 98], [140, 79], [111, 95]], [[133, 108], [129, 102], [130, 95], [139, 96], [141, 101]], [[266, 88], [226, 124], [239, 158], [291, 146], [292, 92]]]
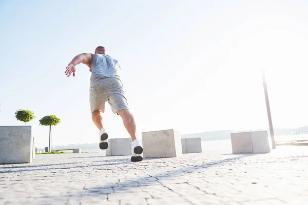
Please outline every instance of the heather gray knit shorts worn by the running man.
[[99, 82], [90, 84], [91, 112], [105, 112], [107, 101], [113, 113], [117, 113], [119, 110], [128, 110], [123, 85], [118, 78], [103, 78]]

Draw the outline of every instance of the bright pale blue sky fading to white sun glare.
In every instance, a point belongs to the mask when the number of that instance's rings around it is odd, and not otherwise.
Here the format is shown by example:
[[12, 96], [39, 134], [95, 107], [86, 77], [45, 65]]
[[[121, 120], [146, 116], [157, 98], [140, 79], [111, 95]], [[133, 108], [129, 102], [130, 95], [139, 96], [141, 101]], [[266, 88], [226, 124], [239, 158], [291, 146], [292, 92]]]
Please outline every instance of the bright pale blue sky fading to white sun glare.
[[[138, 137], [267, 129], [261, 69], [275, 128], [308, 126], [307, 1], [4, 1], [0, 0], [0, 125], [28, 123], [36, 146], [99, 142], [91, 120], [85, 65], [65, 67], [104, 46], [121, 76]], [[129, 137], [108, 104], [111, 138]]]

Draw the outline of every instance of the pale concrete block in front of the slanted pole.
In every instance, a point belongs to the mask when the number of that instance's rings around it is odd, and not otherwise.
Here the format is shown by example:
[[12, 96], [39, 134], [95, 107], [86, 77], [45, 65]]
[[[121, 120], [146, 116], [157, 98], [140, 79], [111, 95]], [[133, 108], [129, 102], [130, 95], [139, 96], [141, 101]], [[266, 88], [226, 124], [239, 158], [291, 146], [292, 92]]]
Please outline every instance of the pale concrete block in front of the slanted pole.
[[266, 131], [231, 133], [233, 153], [271, 152]]

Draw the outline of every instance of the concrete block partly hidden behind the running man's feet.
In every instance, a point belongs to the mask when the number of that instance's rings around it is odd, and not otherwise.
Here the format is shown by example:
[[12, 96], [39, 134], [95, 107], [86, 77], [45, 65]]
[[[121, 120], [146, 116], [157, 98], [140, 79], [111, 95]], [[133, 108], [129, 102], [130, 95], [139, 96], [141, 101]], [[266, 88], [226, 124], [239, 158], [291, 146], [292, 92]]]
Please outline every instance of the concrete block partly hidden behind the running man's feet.
[[131, 155], [131, 138], [108, 139], [106, 156]]

